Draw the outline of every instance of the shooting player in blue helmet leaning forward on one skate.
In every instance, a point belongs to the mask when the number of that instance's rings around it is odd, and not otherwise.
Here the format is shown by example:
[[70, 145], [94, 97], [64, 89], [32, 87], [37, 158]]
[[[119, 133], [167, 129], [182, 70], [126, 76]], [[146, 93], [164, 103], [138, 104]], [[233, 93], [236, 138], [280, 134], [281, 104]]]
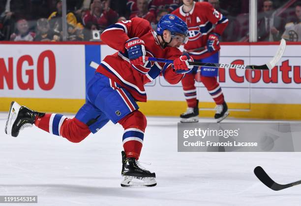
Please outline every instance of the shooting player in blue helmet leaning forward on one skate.
[[[155, 186], [155, 174], [137, 164], [147, 120], [136, 101], [147, 101], [144, 85], [159, 75], [170, 84], [177, 84], [192, 69], [188, 65], [192, 59], [178, 49], [188, 41], [188, 27], [179, 17], [167, 14], [155, 32], [147, 20], [133, 18], [111, 25], [101, 39], [119, 52], [102, 60], [87, 86], [87, 101], [75, 118], [35, 112], [12, 102], [5, 133], [17, 137], [21, 129], [34, 124], [79, 143], [111, 120], [124, 128], [121, 186]], [[174, 63], [149, 62], [146, 56], [174, 59]], [[132, 181], [133, 178], [143, 181]]]

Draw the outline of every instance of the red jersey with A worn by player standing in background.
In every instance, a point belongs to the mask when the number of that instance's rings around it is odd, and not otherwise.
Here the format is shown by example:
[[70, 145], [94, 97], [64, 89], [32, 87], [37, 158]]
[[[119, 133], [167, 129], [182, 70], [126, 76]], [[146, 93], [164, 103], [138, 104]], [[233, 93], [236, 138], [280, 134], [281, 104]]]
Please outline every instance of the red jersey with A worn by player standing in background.
[[[185, 13], [183, 5], [172, 12], [186, 22], [189, 29], [189, 40], [184, 49], [192, 50], [207, 45], [211, 32], [222, 34], [228, 25], [228, 19], [212, 7], [208, 2], [193, 2], [193, 8]], [[193, 59], [204, 59], [218, 51], [209, 53], [207, 49], [189, 52]]]

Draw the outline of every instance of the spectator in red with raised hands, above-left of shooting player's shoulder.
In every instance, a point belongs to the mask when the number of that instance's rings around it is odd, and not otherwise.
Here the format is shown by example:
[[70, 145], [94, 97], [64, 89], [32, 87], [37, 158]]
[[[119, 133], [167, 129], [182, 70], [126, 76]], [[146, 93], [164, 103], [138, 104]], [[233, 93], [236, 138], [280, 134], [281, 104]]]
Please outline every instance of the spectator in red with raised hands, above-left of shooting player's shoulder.
[[90, 10], [86, 12], [83, 22], [98, 24], [100, 30], [104, 30], [118, 19], [118, 13], [110, 8], [110, 0], [93, 0]]

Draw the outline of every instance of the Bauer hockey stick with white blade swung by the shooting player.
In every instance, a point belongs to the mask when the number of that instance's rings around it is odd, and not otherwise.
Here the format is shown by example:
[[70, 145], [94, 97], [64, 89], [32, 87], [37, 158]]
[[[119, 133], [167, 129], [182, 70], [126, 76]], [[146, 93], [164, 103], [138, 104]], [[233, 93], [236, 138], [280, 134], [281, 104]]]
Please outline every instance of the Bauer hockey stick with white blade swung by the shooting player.
[[[206, 63], [206, 62], [196, 62], [196, 61], [189, 61], [189, 65], [193, 66], [209, 66], [209, 67], [216, 67], [216, 68], [225, 68], [225, 69], [259, 69], [259, 70], [269, 70], [274, 68], [276, 63], [281, 59], [284, 51], [285, 51], [286, 42], [284, 39], [281, 39], [280, 45], [278, 50], [267, 64], [263, 65], [241, 65], [241, 64], [224, 64], [224, 63]], [[157, 61], [163, 63], [173, 63], [174, 61], [171, 59], [160, 59], [160, 58], [153, 58], [153, 57], [146, 57], [145, 60], [149, 61]]]

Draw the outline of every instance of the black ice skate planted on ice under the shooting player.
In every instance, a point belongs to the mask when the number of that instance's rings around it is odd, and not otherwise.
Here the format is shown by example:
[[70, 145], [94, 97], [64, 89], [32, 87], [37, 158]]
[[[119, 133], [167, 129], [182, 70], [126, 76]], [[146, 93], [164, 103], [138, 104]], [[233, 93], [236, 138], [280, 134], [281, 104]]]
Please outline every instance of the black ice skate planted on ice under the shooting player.
[[157, 184], [155, 179], [156, 175], [154, 173], [139, 167], [134, 157], [126, 158], [124, 151], [121, 151], [121, 155], [121, 176], [124, 177], [121, 182], [121, 187], [153, 187]]

